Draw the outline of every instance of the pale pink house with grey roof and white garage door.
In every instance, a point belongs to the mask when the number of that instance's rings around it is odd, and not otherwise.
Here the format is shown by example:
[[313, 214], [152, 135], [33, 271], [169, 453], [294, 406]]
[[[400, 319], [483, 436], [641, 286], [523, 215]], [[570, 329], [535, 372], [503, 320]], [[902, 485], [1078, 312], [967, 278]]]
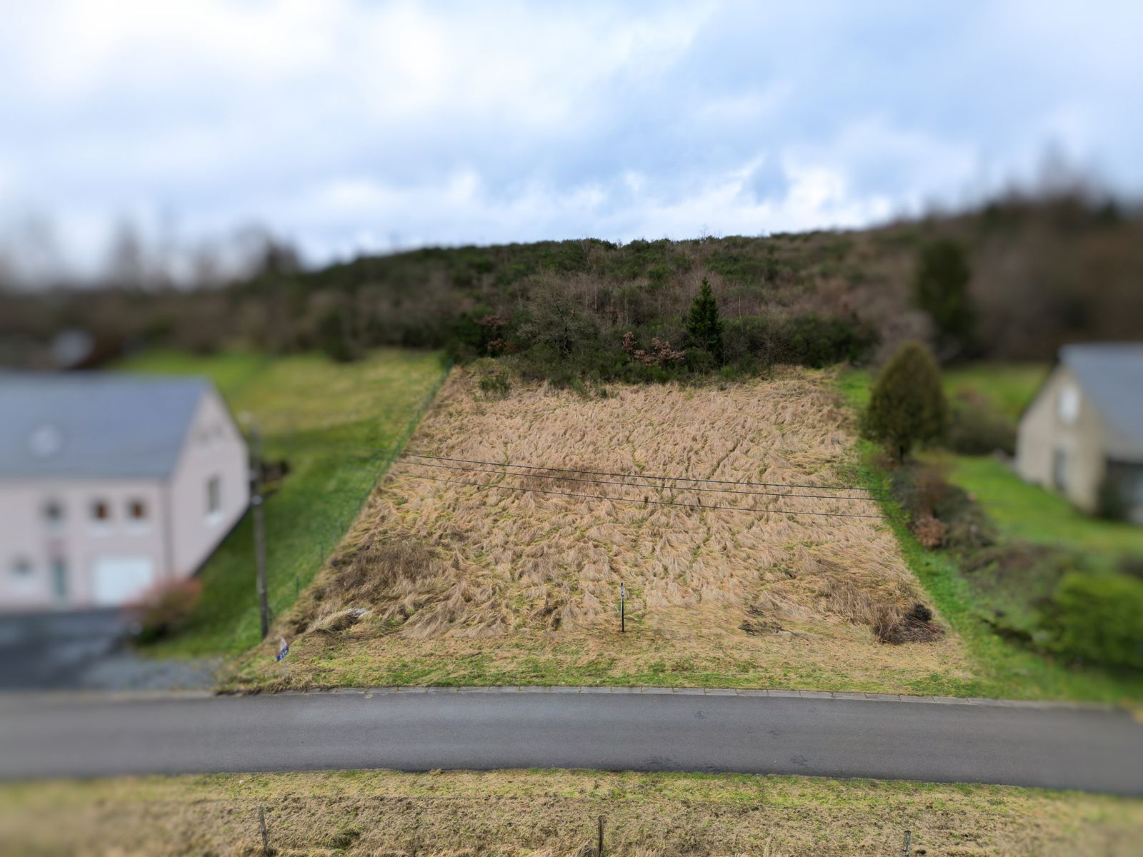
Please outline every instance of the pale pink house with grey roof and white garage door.
[[0, 373], [0, 610], [190, 577], [246, 511], [248, 468], [207, 381]]

